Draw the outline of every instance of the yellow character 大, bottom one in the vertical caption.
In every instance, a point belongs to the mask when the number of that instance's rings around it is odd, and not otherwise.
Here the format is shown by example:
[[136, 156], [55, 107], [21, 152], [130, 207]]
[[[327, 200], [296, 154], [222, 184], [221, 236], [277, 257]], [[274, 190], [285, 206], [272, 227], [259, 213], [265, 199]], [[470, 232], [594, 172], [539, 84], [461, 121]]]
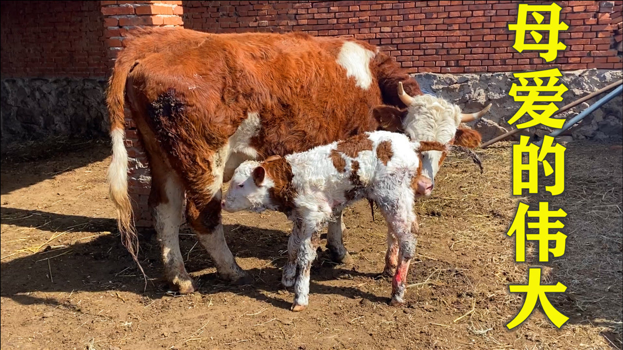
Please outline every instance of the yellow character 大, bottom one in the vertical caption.
[[530, 268], [528, 270], [528, 285], [510, 285], [508, 286], [511, 293], [526, 293], [521, 310], [508, 324], [506, 328], [513, 329], [525, 321], [532, 311], [535, 310], [536, 301], [540, 301], [543, 313], [557, 328], [561, 328], [568, 321], [568, 317], [564, 316], [560, 311], [556, 310], [549, 302], [545, 293], [563, 293], [567, 290], [567, 286], [563, 283], [556, 285], [541, 285], [541, 269]]

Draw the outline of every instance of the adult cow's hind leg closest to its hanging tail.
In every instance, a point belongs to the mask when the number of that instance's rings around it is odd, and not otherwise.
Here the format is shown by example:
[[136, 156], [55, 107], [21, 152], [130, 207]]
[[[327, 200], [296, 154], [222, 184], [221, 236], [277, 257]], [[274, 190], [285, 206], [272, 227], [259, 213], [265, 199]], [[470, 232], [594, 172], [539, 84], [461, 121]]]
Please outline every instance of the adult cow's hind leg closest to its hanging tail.
[[164, 278], [182, 294], [193, 293], [193, 280], [179, 251], [179, 226], [183, 222], [184, 187], [164, 161], [151, 158], [149, 206], [164, 265]]

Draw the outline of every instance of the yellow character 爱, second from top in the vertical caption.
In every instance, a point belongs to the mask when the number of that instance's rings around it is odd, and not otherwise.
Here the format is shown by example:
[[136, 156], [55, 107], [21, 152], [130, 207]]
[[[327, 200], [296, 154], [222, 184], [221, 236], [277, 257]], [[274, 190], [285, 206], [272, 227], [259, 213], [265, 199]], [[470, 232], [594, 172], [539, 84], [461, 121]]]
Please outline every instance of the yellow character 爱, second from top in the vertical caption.
[[[554, 119], [551, 118], [551, 116], [558, 110], [558, 106], [554, 105], [554, 102], [561, 102], [563, 100], [563, 93], [569, 90], [564, 86], [564, 83], [556, 85], [556, 83], [559, 82], [557, 77], [562, 77], [563, 73], [561, 73], [558, 68], [554, 68], [540, 70], [538, 72], [513, 73], [513, 75], [519, 78], [521, 85], [513, 83], [508, 95], [512, 96], [515, 102], [523, 102], [523, 105], [521, 105], [521, 108], [510, 118], [508, 124], [515, 123], [521, 116], [528, 113], [532, 119], [516, 125], [517, 128], [530, 128], [531, 126], [539, 124], [549, 126], [550, 128], [562, 128], [564, 119]], [[536, 85], [528, 86], [528, 78], [532, 78]], [[543, 78], [549, 78], [545, 86], [543, 85]], [[518, 95], [518, 93], [522, 93], [522, 95]], [[537, 105], [535, 103], [547, 104]]]

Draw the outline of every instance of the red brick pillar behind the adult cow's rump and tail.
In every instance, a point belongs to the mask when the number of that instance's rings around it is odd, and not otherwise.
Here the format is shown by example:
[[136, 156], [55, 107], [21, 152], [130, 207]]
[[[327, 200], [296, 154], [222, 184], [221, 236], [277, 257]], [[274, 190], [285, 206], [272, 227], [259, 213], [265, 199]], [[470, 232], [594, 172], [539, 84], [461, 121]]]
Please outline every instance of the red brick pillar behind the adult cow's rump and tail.
[[[183, 7], [181, 1], [101, 1], [104, 16], [105, 37], [108, 45], [108, 63], [113, 67], [123, 40], [135, 27], [181, 27]], [[143, 146], [138, 140], [136, 124], [130, 110], [125, 110], [125, 146], [130, 158], [128, 192], [134, 205], [135, 224], [151, 226], [151, 214], [147, 207], [150, 194], [150, 171]]]

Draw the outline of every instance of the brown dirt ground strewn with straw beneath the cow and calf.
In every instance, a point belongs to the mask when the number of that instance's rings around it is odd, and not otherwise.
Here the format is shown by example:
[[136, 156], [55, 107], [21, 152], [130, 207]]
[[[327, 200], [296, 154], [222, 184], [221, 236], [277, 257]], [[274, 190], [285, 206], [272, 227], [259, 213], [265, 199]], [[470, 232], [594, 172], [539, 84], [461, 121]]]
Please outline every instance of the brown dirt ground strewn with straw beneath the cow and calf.
[[160, 280], [159, 247], [142, 238], [143, 278], [121, 245], [104, 183], [107, 141], [22, 144], [3, 150], [1, 169], [2, 349], [621, 349], [622, 152], [613, 144], [568, 144], [566, 192], [524, 197], [562, 207], [566, 253], [546, 265], [550, 295], [570, 319], [556, 329], [540, 309], [508, 331], [538, 265], [516, 263], [506, 236], [519, 197], [510, 196], [509, 144], [450, 156], [432, 198], [416, 203], [420, 224], [406, 305], [391, 307], [384, 264], [386, 226], [367, 202], [345, 211], [350, 266], [322, 253], [310, 307], [289, 311], [280, 277], [290, 224], [277, 212], [224, 214], [229, 247], [255, 283], [218, 280], [189, 230], [181, 235], [193, 295]]

